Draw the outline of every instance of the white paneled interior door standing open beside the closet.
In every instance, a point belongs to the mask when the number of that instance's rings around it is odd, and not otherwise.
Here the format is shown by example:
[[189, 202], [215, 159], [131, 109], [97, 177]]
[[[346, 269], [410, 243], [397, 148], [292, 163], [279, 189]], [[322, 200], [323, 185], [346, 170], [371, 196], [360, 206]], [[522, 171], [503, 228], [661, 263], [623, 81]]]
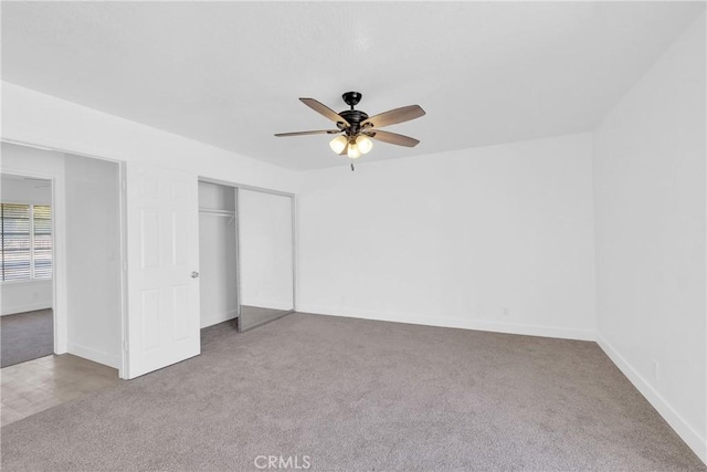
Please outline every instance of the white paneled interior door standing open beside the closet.
[[197, 356], [197, 176], [127, 165], [127, 378]]

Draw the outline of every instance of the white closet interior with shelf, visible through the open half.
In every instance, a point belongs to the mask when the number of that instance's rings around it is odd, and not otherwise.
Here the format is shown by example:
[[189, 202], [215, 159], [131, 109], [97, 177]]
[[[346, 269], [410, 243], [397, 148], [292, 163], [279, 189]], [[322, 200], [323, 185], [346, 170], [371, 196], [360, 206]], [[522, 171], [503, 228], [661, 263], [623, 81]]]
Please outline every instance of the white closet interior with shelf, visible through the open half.
[[199, 300], [203, 328], [238, 316], [235, 189], [199, 182]]

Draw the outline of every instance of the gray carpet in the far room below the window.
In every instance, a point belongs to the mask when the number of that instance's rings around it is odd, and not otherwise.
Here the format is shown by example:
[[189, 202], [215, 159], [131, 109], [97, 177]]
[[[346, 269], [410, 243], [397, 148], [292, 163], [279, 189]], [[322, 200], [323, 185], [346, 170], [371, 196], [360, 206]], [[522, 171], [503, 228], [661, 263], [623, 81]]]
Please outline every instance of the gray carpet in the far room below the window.
[[51, 310], [0, 316], [0, 365], [27, 363], [54, 353]]

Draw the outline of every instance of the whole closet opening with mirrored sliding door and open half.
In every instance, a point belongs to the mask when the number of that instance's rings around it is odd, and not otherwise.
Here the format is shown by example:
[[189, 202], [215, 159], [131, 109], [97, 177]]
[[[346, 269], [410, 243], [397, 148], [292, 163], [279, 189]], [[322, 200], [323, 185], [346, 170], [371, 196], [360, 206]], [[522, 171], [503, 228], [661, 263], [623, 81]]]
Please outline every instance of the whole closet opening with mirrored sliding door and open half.
[[201, 328], [244, 332], [294, 312], [294, 196], [199, 181]]

